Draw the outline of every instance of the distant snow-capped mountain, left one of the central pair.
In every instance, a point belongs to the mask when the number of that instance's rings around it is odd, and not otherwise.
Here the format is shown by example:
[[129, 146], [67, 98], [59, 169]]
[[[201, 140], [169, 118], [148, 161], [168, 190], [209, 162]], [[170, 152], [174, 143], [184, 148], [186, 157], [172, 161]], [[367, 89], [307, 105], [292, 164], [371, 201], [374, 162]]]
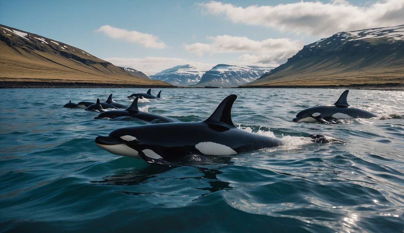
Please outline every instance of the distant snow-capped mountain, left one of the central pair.
[[175, 86], [190, 86], [198, 83], [203, 74], [204, 71], [198, 70], [194, 66], [183, 65], [163, 70], [155, 75], [150, 75], [150, 78], [161, 80]]

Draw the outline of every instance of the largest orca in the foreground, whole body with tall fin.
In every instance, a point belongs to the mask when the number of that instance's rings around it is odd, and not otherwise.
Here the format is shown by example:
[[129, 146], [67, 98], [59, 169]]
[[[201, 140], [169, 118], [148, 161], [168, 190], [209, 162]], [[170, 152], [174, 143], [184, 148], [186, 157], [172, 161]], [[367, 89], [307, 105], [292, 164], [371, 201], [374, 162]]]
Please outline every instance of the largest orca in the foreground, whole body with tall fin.
[[138, 125], [98, 136], [95, 143], [116, 155], [167, 163], [187, 155], [233, 155], [280, 146], [278, 138], [238, 129], [231, 121], [237, 95], [229, 95], [205, 121]]

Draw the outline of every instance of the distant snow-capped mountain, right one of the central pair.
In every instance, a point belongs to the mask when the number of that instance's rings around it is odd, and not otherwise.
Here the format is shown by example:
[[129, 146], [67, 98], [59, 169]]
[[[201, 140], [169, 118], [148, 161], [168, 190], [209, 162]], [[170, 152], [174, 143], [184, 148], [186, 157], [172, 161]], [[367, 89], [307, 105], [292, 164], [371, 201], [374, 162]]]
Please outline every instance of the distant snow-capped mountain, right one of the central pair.
[[238, 87], [250, 83], [271, 68], [219, 64], [206, 71], [199, 83], [192, 87]]

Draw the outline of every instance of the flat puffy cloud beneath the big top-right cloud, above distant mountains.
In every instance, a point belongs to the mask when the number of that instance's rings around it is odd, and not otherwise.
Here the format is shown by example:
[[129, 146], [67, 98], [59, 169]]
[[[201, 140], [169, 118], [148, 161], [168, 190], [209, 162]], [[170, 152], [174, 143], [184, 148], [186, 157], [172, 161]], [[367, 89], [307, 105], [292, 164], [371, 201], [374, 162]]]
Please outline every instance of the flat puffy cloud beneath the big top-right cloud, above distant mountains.
[[288, 38], [251, 40], [247, 37], [238, 36], [208, 36], [213, 42], [210, 44], [194, 43], [184, 44], [185, 49], [190, 53], [202, 56], [204, 52], [210, 53], [296, 53], [303, 44], [297, 40]]

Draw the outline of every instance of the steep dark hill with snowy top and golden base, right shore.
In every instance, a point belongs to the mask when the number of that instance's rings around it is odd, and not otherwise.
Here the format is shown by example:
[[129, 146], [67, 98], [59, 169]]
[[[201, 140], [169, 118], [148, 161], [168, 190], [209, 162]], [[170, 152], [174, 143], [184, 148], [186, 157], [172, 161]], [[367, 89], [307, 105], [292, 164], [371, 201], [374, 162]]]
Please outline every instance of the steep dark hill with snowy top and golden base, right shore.
[[403, 34], [404, 25], [339, 32], [244, 86], [402, 85]]

